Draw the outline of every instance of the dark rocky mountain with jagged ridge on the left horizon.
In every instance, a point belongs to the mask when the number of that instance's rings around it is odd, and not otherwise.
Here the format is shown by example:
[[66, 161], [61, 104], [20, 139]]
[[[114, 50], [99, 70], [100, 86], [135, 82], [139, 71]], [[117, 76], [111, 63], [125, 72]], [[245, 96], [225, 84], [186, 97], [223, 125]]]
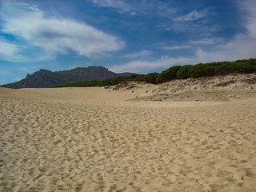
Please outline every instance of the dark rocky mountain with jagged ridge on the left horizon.
[[78, 82], [86, 80], [102, 80], [114, 78], [117, 76], [130, 76], [132, 73], [115, 74], [103, 66], [77, 67], [73, 70], [62, 70], [52, 72], [50, 70], [38, 70], [34, 74], [27, 74], [19, 82], [2, 85], [2, 87], [20, 89], [20, 88], [46, 88], [60, 86], [69, 82]]

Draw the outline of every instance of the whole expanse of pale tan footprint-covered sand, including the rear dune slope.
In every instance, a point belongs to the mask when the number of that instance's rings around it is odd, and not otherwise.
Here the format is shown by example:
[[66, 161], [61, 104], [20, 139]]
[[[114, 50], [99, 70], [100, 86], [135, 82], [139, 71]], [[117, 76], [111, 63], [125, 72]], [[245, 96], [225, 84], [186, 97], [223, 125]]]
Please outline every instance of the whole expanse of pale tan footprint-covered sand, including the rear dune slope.
[[254, 77], [0, 88], [0, 191], [254, 191]]

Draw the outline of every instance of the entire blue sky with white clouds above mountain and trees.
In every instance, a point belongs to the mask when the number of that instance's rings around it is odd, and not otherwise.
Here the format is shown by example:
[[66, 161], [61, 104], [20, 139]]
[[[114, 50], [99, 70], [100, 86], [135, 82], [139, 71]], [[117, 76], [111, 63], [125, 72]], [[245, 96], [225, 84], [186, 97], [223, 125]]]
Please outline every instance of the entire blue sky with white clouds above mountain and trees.
[[255, 0], [0, 0], [0, 85], [39, 69], [147, 74], [256, 58]]

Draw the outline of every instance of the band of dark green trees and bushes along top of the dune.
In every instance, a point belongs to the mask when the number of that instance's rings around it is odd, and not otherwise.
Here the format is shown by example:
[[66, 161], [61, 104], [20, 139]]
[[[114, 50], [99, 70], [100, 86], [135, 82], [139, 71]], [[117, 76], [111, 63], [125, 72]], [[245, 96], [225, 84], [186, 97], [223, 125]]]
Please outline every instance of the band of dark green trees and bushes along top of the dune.
[[67, 83], [54, 87], [80, 87], [80, 86], [114, 86], [127, 81], [145, 81], [154, 84], [168, 82], [173, 79], [202, 78], [214, 75], [226, 74], [251, 74], [256, 73], [256, 59], [243, 59], [235, 62], [210, 62], [197, 65], [172, 66], [162, 73], [132, 74], [130, 77], [115, 77], [105, 80], [91, 80], [83, 82]]

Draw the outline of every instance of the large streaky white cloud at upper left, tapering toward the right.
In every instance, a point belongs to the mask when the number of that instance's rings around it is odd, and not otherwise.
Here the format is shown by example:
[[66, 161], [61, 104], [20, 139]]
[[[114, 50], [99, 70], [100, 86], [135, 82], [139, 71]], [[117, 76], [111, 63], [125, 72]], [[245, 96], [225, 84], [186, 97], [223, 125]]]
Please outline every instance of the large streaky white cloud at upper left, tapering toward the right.
[[50, 58], [55, 54], [68, 54], [68, 50], [92, 58], [124, 46], [124, 42], [117, 37], [84, 22], [46, 18], [46, 14], [36, 6], [5, 2], [2, 9], [2, 31], [26, 40], [30, 46], [45, 50]]

